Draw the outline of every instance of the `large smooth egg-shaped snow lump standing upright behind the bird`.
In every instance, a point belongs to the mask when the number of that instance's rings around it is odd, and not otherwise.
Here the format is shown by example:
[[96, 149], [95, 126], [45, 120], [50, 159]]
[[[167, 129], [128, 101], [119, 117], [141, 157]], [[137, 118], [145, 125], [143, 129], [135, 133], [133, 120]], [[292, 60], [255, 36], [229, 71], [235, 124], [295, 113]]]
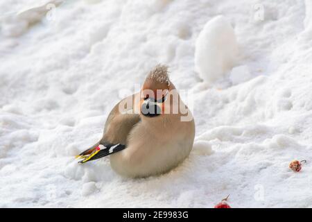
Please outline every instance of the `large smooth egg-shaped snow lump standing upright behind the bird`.
[[195, 69], [200, 78], [214, 83], [238, 61], [239, 46], [231, 24], [218, 15], [202, 29], [196, 40]]

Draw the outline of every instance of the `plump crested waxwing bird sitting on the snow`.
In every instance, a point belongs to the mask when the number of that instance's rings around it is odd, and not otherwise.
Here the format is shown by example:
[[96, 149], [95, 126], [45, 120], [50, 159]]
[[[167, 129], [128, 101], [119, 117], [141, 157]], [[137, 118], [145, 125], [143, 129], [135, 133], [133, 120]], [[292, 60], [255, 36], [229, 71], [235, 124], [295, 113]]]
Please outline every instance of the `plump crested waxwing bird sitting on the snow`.
[[80, 163], [110, 155], [111, 167], [125, 177], [165, 173], [189, 156], [195, 123], [168, 78], [157, 65], [141, 91], [121, 100], [110, 112], [102, 139], [80, 153]]

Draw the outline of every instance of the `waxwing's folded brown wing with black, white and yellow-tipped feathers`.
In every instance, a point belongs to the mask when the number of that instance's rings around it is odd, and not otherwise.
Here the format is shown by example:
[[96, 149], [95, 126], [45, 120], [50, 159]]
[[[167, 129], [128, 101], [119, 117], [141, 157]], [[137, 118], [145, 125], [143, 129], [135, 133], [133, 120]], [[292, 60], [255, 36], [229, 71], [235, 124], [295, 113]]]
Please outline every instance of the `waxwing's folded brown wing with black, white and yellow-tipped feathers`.
[[[128, 112], [131, 110], [133, 111], [135, 96], [137, 96], [137, 94], [128, 96], [115, 105], [107, 117], [102, 139], [76, 156], [83, 158], [80, 163], [96, 160], [126, 148], [130, 131], [141, 120], [139, 114]], [[123, 106], [123, 108], [125, 108], [123, 111], [126, 112], [120, 112], [119, 105], [121, 103], [123, 104], [125, 101], [132, 101], [132, 103], [126, 103], [126, 105]]]

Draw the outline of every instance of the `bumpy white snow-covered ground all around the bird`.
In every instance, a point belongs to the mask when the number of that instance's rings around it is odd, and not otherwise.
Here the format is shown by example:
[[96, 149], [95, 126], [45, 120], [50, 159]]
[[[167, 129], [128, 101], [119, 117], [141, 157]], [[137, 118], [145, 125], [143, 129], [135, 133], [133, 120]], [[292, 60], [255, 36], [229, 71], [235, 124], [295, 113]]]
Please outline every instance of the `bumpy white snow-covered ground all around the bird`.
[[[53, 21], [12, 22], [48, 2], [0, 3], [0, 207], [213, 207], [228, 194], [232, 207], [312, 207], [309, 0], [76, 0]], [[218, 15], [241, 58], [198, 74], [198, 36]], [[203, 47], [216, 41], [205, 36]], [[205, 67], [228, 55], [220, 46], [200, 56]], [[190, 157], [139, 180], [116, 175], [107, 158], [78, 165], [73, 156], [101, 137], [113, 105], [159, 62], [193, 92]], [[307, 160], [299, 173], [293, 159]]]

